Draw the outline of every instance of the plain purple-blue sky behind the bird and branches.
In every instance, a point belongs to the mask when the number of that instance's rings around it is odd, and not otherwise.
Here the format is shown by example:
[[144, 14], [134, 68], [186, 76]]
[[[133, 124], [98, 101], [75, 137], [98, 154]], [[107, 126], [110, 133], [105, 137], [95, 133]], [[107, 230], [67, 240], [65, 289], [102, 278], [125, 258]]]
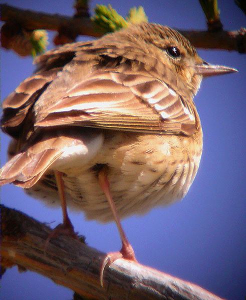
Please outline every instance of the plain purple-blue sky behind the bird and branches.
[[[3, 1], [2, 1], [3, 2]], [[7, 0], [22, 8], [72, 15], [73, 1]], [[91, 1], [91, 7], [108, 1]], [[111, 0], [123, 16], [142, 5], [149, 21], [182, 29], [206, 29], [198, 0]], [[227, 30], [246, 26], [243, 12], [231, 0], [218, 1], [221, 21]], [[53, 48], [54, 32], [49, 33]], [[79, 38], [79, 40], [81, 37]], [[87, 40], [89, 38], [83, 37]], [[238, 69], [238, 73], [207, 78], [195, 97], [200, 114], [204, 147], [198, 174], [186, 197], [171, 206], [157, 207], [144, 216], [123, 220], [127, 236], [140, 263], [192, 281], [231, 300], [246, 295], [246, 56], [221, 50], [198, 50], [203, 59]], [[32, 58], [21, 58], [1, 49], [2, 100], [34, 70]], [[9, 137], [2, 134], [1, 165], [7, 159]], [[56, 226], [60, 208], [52, 209], [6, 185], [2, 203], [40, 221]], [[109, 252], [120, 249], [114, 223], [87, 221], [83, 212], [70, 212], [75, 230], [90, 246]], [[33, 272], [7, 270], [1, 299], [72, 299], [73, 292]]]

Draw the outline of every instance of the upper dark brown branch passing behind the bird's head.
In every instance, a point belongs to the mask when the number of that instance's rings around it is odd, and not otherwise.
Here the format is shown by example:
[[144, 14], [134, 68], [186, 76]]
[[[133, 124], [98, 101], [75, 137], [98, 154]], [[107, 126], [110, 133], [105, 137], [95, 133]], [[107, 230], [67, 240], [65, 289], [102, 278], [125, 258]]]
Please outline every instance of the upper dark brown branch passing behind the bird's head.
[[[48, 29], [56, 30], [62, 26], [68, 28], [75, 34], [101, 36], [104, 29], [94, 24], [88, 16], [74, 18], [59, 14], [48, 14], [24, 10], [1, 4], [1, 20], [16, 21], [26, 29]], [[178, 29], [179, 30], [179, 29]], [[191, 43], [198, 48], [224, 49], [246, 53], [246, 29], [241, 28], [236, 31], [196, 31], [179, 30]]]

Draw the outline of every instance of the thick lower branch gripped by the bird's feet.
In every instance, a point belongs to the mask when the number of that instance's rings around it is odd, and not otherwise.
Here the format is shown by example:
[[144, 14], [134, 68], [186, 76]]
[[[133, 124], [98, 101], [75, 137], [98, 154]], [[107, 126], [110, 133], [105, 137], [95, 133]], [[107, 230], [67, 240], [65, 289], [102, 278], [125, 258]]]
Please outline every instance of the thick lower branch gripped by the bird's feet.
[[17, 210], [2, 208], [2, 265], [17, 264], [93, 299], [199, 299], [221, 300], [210, 292], [179, 278], [139, 263], [116, 260], [104, 274], [99, 272], [105, 253], [68, 236], [52, 239], [51, 229]]

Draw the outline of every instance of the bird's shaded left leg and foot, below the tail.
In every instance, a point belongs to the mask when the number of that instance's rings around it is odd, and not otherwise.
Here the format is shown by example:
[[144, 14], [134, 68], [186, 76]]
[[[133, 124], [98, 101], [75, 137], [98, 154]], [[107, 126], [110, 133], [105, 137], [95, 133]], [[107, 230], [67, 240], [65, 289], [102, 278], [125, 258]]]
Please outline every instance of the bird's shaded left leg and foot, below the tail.
[[61, 206], [62, 206], [62, 214], [63, 214], [63, 223], [56, 226], [55, 229], [52, 230], [50, 235], [48, 236], [45, 248], [47, 248], [49, 241], [58, 236], [59, 234], [65, 234], [72, 236], [76, 239], [79, 239], [78, 234], [74, 231], [74, 226], [68, 216], [68, 210], [67, 210], [67, 203], [66, 203], [66, 197], [65, 197], [65, 191], [64, 191], [64, 182], [62, 179], [62, 172], [55, 171], [55, 177], [57, 182], [57, 188], [59, 193], [59, 198], [61, 200]]

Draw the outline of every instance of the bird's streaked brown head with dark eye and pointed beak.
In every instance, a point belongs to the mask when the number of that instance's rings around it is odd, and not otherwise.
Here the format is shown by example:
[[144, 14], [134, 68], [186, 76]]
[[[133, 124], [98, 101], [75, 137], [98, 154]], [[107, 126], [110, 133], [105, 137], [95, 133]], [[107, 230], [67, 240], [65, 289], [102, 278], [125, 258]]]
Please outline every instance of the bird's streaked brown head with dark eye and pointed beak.
[[203, 77], [236, 71], [234, 68], [205, 62], [186, 37], [167, 26], [134, 24], [108, 37], [120, 41], [126, 56], [134, 57], [132, 53], [136, 53], [136, 59], [146, 65], [155, 64], [160, 78], [184, 94], [191, 92], [192, 96], [195, 95]]

